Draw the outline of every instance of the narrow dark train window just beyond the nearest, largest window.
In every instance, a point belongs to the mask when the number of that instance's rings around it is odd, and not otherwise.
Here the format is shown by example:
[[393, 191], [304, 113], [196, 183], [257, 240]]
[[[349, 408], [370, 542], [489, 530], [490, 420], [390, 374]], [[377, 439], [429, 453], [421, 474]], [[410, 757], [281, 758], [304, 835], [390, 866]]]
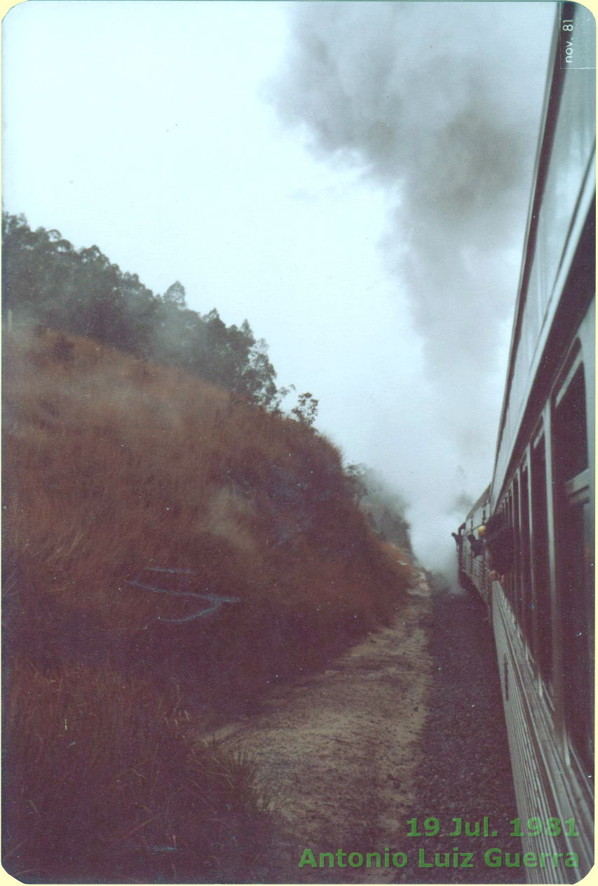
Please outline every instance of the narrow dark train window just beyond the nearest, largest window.
[[552, 603], [548, 559], [546, 445], [540, 437], [532, 451], [532, 574], [536, 657], [548, 692], [553, 688]]

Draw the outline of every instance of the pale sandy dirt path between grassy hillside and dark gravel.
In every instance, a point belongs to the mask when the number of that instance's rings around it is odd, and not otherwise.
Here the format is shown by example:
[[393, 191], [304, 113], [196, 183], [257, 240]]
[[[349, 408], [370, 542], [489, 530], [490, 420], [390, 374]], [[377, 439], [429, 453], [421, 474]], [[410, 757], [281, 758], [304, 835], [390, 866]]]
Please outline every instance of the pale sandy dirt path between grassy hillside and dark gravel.
[[[369, 634], [326, 670], [274, 688], [251, 720], [217, 733], [252, 752], [260, 787], [276, 804], [283, 833], [270, 854], [270, 882], [322, 882], [322, 870], [298, 869], [306, 847], [316, 858], [338, 848], [399, 848], [414, 807], [431, 683], [430, 595], [421, 573], [392, 627]], [[396, 873], [361, 867], [338, 879], [390, 882]]]

